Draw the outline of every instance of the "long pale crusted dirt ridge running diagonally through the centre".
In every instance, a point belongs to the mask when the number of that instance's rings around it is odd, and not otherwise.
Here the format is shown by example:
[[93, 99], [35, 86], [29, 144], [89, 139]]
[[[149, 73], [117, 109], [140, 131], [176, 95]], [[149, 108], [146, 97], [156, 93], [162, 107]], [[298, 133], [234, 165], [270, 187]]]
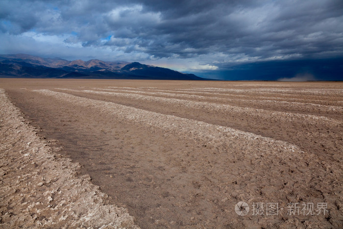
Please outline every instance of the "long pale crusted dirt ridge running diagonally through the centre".
[[[51, 96], [63, 102], [73, 102], [75, 105], [97, 111], [98, 114], [112, 117], [116, 120], [133, 122], [135, 125], [143, 125], [148, 128], [159, 128], [165, 131], [165, 135], [187, 136], [189, 139], [203, 141], [210, 147], [224, 147], [235, 149], [241, 145], [240, 153], [246, 158], [259, 158], [257, 152], [264, 155], [273, 155], [279, 159], [287, 160], [290, 157], [312, 158], [313, 155], [301, 151], [297, 146], [288, 142], [263, 137], [250, 132], [245, 132], [230, 127], [213, 125], [192, 119], [180, 118], [173, 115], [165, 115], [130, 107], [114, 102], [104, 102], [71, 94], [50, 91], [34, 90], [35, 92]], [[242, 144], [244, 143], [244, 144]], [[237, 150], [237, 149], [236, 149]]]

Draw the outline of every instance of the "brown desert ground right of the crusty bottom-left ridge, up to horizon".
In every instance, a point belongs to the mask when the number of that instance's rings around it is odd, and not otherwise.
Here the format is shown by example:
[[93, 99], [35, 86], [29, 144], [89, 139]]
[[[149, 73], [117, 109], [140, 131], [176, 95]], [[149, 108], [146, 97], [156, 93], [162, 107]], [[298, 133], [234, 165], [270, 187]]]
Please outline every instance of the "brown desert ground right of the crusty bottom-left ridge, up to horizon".
[[[343, 227], [341, 82], [0, 85], [142, 228]], [[240, 201], [246, 216], [235, 213]], [[278, 203], [278, 214], [253, 215], [254, 203]], [[291, 203], [328, 212], [288, 215]]]

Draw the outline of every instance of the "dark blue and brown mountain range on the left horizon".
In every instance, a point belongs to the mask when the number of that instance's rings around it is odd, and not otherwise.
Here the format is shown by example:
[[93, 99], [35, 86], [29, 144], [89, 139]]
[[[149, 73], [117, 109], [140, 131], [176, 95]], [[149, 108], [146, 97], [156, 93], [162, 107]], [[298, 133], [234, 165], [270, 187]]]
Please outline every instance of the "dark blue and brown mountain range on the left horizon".
[[206, 80], [194, 74], [138, 62], [69, 61], [28, 54], [0, 55], [0, 77]]

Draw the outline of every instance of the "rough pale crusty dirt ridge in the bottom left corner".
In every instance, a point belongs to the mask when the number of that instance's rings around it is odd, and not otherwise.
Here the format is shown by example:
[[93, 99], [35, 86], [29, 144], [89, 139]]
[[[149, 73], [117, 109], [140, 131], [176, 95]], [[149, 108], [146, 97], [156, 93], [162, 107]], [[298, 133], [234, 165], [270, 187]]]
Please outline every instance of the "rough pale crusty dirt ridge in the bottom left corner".
[[0, 134], [1, 228], [138, 228], [89, 176], [76, 176], [78, 163], [37, 136], [3, 89]]

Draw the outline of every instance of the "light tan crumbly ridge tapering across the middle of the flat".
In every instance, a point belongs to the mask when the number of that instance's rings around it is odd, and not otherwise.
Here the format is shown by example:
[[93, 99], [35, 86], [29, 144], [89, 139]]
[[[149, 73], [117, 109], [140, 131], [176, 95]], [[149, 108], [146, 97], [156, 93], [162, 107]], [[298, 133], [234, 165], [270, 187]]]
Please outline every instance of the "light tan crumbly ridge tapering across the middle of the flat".
[[296, 152], [300, 153], [302, 156], [304, 156], [303, 153], [305, 153], [293, 144], [230, 127], [222, 127], [201, 121], [180, 118], [173, 115], [164, 115], [135, 107], [125, 106], [114, 102], [87, 99], [46, 89], [34, 91], [53, 96], [54, 98], [64, 100], [66, 102], [73, 101], [75, 104], [97, 109], [99, 113], [107, 112], [113, 114], [116, 118], [127, 119], [133, 122], [142, 123], [147, 126], [166, 129], [169, 130], [169, 132], [170, 130], [173, 130], [178, 132], [178, 134], [188, 134], [194, 138], [202, 139], [204, 142], [209, 142], [215, 147], [223, 144], [223, 142], [225, 143], [228, 140], [239, 139], [248, 140], [247, 145], [257, 143], [264, 145], [264, 147], [278, 147], [282, 152]]

